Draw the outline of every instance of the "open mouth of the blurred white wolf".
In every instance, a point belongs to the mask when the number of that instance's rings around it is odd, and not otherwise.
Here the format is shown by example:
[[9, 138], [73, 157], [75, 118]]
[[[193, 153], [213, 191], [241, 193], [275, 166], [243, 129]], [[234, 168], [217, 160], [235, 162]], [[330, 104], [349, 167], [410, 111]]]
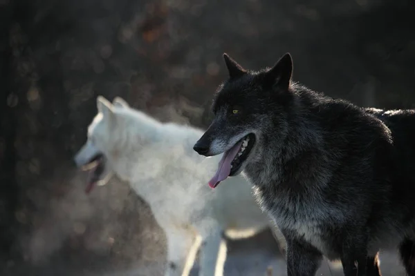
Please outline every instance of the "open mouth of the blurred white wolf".
[[102, 153], [94, 155], [87, 164], [82, 166], [82, 170], [88, 171], [88, 182], [85, 193], [91, 193], [91, 190], [98, 184], [103, 185], [107, 182], [107, 176], [102, 177], [105, 171], [106, 159]]

